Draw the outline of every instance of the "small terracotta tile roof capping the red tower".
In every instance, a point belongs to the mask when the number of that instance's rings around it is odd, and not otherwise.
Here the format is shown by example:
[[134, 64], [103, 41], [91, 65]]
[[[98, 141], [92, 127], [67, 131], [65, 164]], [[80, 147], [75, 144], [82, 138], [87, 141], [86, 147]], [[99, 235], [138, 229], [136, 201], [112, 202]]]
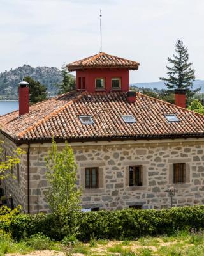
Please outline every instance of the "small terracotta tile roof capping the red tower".
[[140, 63], [100, 52], [94, 56], [66, 65], [69, 71], [85, 68], [128, 68], [138, 70]]

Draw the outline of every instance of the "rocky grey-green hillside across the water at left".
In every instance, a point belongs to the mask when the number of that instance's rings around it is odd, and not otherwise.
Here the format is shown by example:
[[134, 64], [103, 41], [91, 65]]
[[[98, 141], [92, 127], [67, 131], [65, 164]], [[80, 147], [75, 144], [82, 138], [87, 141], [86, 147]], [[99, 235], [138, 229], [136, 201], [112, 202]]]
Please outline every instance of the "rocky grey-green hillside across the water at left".
[[36, 67], [24, 65], [10, 71], [0, 73], [0, 99], [18, 99], [18, 83], [24, 76], [31, 76], [47, 87], [48, 95], [57, 94], [56, 84], [61, 83], [61, 71], [55, 67]]

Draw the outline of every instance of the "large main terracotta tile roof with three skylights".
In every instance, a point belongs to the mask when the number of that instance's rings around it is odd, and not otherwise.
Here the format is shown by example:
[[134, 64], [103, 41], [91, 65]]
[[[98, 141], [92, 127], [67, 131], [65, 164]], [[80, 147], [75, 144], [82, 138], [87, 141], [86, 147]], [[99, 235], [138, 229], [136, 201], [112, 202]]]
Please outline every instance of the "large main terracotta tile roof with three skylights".
[[[175, 114], [180, 122], [167, 122], [164, 114]], [[94, 124], [82, 124], [78, 118], [91, 115]], [[125, 123], [121, 115], [133, 115], [136, 123]], [[204, 115], [179, 108], [141, 93], [129, 103], [125, 92], [69, 92], [30, 107], [0, 116], [1, 132], [16, 141], [110, 140], [141, 138], [180, 138], [204, 136]]]

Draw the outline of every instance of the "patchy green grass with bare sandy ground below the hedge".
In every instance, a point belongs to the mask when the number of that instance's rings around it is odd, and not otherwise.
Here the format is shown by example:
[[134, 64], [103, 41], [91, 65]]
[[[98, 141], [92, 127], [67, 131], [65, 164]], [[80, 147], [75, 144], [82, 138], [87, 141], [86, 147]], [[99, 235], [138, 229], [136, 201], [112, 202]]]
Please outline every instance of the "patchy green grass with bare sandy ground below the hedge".
[[[42, 241], [41, 241], [42, 240]], [[38, 252], [33, 252], [38, 250]], [[43, 251], [47, 250], [47, 251]], [[55, 250], [55, 251], [54, 251]], [[57, 252], [58, 251], [58, 252]], [[14, 254], [10, 254], [14, 253]], [[17, 254], [18, 253], [18, 254]], [[91, 239], [89, 243], [76, 242], [73, 247], [62, 246], [45, 237], [37, 236], [14, 242], [9, 237], [0, 239], [0, 255], [122, 255], [122, 256], [201, 256], [204, 255], [204, 232], [179, 232], [174, 236], [142, 237], [135, 241], [108, 241]]]

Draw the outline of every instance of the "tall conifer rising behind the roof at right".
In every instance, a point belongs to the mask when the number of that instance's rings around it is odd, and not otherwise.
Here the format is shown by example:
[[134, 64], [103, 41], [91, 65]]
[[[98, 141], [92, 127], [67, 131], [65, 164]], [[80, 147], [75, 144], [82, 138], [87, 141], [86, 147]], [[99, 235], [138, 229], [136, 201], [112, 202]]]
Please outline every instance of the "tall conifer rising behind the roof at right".
[[187, 94], [192, 96], [200, 88], [192, 90], [195, 81], [194, 69], [191, 68], [193, 63], [189, 62], [187, 48], [180, 39], [176, 42], [175, 52], [173, 58], [168, 57], [168, 61], [173, 65], [171, 67], [166, 66], [168, 78], [160, 77], [159, 79], [164, 81], [168, 90], [185, 89]]

